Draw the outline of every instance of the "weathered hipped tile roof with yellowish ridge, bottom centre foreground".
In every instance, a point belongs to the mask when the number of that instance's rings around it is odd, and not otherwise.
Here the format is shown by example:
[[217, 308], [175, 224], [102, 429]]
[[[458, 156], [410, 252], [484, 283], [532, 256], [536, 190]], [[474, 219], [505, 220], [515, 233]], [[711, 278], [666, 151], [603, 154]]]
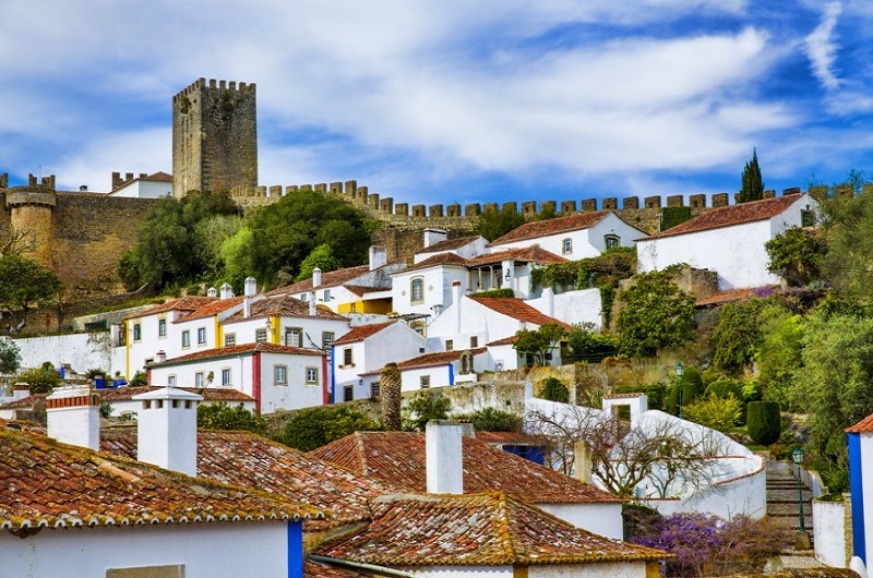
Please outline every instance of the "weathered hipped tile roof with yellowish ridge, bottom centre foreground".
[[576, 528], [499, 492], [384, 496], [376, 508], [369, 527], [323, 544], [318, 554], [387, 566], [528, 566], [670, 557], [660, 550]]

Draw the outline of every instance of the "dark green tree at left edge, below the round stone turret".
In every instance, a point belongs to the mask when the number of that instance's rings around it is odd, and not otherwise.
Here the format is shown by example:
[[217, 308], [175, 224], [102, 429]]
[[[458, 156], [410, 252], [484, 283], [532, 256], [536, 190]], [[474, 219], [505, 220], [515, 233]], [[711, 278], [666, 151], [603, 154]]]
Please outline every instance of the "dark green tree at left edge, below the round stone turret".
[[0, 310], [27, 318], [33, 305], [50, 303], [63, 288], [58, 276], [21, 255], [0, 257]]

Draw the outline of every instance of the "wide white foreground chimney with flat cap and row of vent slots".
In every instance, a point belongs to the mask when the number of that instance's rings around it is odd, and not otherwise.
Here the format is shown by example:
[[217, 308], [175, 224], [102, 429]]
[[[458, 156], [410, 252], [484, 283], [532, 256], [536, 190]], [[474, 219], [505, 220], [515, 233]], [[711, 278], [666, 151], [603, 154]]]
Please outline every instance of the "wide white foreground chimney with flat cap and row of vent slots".
[[198, 474], [198, 404], [202, 396], [164, 387], [133, 396], [136, 459], [188, 475]]

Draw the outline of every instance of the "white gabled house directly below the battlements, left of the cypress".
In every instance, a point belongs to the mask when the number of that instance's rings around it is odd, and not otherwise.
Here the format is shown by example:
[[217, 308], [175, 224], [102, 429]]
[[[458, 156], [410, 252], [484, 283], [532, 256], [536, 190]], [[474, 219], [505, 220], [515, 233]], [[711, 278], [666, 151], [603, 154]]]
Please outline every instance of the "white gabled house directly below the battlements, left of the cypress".
[[534, 244], [570, 261], [594, 257], [613, 246], [633, 246], [646, 234], [612, 210], [585, 212], [527, 222], [491, 241], [491, 251], [526, 249]]

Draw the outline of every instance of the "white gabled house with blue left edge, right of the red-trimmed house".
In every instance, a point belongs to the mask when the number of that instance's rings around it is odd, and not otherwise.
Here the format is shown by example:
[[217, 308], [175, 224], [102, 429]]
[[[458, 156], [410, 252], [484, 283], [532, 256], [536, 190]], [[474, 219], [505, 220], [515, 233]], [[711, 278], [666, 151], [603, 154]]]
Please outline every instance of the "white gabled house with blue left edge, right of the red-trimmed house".
[[351, 401], [372, 397], [373, 373], [392, 361], [424, 352], [424, 338], [399, 321], [354, 327], [332, 345], [331, 399]]

